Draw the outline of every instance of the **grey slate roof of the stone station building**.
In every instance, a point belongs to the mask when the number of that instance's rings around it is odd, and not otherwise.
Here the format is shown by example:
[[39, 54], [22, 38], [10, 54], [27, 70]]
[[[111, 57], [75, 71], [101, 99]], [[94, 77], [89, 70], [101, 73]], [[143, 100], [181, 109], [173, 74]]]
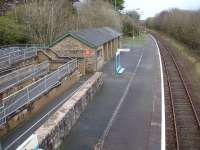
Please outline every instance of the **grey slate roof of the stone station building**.
[[104, 43], [121, 36], [122, 33], [109, 27], [91, 28], [78, 32], [68, 32], [63, 37], [56, 40], [51, 46], [55, 45], [56, 43], [60, 42], [62, 39], [70, 35], [92, 48], [97, 48]]

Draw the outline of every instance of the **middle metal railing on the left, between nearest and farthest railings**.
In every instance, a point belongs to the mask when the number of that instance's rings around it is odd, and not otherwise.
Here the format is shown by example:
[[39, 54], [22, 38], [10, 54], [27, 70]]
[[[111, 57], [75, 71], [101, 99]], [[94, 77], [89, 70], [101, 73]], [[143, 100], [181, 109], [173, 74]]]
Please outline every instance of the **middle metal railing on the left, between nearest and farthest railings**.
[[23, 81], [38, 78], [49, 72], [49, 62], [31, 65], [0, 77], [0, 93], [22, 83]]

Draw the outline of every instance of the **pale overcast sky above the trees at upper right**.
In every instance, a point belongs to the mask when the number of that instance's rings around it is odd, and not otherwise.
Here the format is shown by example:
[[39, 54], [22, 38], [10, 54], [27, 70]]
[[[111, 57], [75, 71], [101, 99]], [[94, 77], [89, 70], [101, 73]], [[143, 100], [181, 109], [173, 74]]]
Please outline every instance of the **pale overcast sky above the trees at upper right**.
[[142, 19], [170, 8], [200, 9], [200, 0], [125, 0], [125, 10], [140, 8]]

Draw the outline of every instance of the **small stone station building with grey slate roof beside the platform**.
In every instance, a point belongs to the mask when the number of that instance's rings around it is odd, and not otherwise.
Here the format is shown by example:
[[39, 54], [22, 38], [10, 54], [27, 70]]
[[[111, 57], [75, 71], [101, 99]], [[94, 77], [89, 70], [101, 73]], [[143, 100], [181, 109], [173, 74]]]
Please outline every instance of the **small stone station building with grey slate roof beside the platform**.
[[68, 32], [50, 47], [60, 57], [77, 58], [85, 71], [98, 71], [120, 47], [122, 34], [112, 28], [91, 28]]

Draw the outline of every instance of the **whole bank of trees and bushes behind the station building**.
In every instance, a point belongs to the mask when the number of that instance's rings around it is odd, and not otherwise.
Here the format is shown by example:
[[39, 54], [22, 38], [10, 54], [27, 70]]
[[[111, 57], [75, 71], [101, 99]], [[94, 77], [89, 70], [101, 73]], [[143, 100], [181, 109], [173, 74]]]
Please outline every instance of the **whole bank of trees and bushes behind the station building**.
[[110, 26], [138, 35], [139, 14], [122, 14], [124, 0], [30, 0], [0, 17], [0, 45], [37, 43], [49, 45], [67, 31]]

